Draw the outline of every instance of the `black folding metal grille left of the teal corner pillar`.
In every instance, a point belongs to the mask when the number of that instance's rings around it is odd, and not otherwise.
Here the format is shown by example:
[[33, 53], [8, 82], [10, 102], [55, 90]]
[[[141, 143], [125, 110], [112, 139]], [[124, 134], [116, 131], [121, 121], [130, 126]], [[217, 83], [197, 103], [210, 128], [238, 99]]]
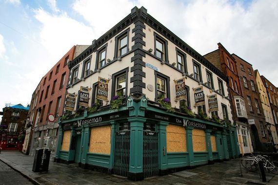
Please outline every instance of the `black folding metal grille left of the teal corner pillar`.
[[129, 168], [130, 131], [118, 131], [115, 138], [114, 173], [127, 177]]

